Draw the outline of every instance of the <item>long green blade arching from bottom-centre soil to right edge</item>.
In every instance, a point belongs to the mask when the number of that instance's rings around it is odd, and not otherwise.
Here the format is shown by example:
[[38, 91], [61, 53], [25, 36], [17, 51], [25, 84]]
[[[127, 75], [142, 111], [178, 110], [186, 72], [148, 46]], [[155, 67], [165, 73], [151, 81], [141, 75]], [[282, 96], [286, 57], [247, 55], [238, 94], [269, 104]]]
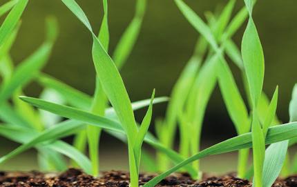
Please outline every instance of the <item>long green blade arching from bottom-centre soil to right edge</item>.
[[[293, 137], [296, 137], [297, 131], [294, 131], [294, 130], [297, 130], [297, 122], [271, 127], [267, 132], [265, 143], [273, 144], [278, 141], [284, 141], [286, 139], [291, 139]], [[162, 173], [161, 175], [158, 175], [157, 177], [154, 177], [153, 179], [151, 179], [151, 181], [148, 181], [148, 183], [146, 183], [144, 187], [155, 186], [166, 176], [170, 175], [171, 173], [174, 173], [175, 171], [179, 170], [186, 164], [190, 164], [195, 160], [202, 159], [209, 155], [219, 155], [225, 152], [232, 152], [232, 151], [236, 151], [244, 148], [251, 148], [252, 146], [251, 139], [252, 139], [251, 132], [248, 132], [248, 133], [245, 133], [244, 135], [239, 135], [237, 137], [227, 139], [225, 141], [220, 142], [219, 144], [215, 144], [214, 146], [206, 148], [198, 152], [198, 154], [193, 155], [189, 159], [182, 161], [180, 164], [174, 166], [170, 170], [167, 170], [166, 172]]]

